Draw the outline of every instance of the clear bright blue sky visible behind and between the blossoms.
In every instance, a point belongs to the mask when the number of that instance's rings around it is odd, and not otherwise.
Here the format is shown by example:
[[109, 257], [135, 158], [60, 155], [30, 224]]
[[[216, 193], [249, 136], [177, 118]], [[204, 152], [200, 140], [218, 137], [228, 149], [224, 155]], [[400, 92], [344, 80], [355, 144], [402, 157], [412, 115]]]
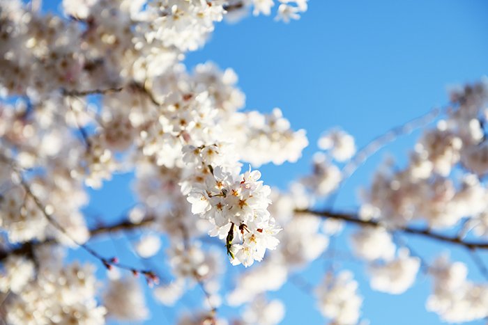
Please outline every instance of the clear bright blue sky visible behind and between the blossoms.
[[[58, 1], [45, 3], [54, 8]], [[207, 60], [234, 68], [247, 96], [247, 109], [267, 112], [278, 106], [294, 128], [307, 130], [311, 145], [298, 164], [261, 168], [266, 183], [284, 188], [308, 171], [323, 130], [340, 125], [356, 137], [359, 146], [365, 145], [390, 127], [447, 102], [446, 86], [487, 74], [488, 1], [310, 0], [309, 10], [298, 22], [248, 17], [238, 24], [218, 24], [206, 47], [189, 54], [185, 63], [192, 67]], [[385, 152], [404, 161], [413, 139], [399, 139], [372, 157], [346, 183], [337, 207], [356, 206], [357, 187], [367, 185]], [[94, 192], [87, 212], [120, 215], [133, 202], [129, 180], [130, 175], [116, 177]], [[425, 257], [443, 249], [419, 239], [410, 244]], [[346, 246], [346, 241], [340, 245]], [[114, 252], [109, 241], [95, 246], [107, 254]], [[83, 253], [73, 255], [90, 260]], [[464, 258], [464, 253], [456, 252], [455, 257]], [[121, 256], [130, 258], [130, 252]], [[305, 273], [311, 282], [321, 278], [322, 264]], [[363, 315], [372, 324], [441, 324], [436, 315], [425, 311], [431, 285], [425, 277], [419, 276], [406, 294], [392, 296], [369, 289], [361, 264], [345, 266], [358, 271], [365, 296]], [[470, 276], [480, 278], [474, 268]], [[283, 324], [323, 324], [314, 299], [293, 285], [270, 296], [287, 304]], [[153, 303], [149, 296], [148, 301], [153, 319], [145, 324], [173, 319], [174, 310]], [[230, 315], [231, 310], [222, 312]]]

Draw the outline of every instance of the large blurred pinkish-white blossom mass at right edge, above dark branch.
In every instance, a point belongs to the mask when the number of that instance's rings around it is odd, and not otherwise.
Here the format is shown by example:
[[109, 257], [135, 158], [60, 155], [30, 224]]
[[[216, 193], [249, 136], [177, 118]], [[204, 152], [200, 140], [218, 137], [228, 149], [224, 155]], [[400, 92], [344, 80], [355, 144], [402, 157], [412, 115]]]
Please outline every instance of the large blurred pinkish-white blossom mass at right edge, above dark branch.
[[[421, 220], [442, 229], [470, 217], [483, 232], [478, 220], [488, 208], [488, 191], [480, 177], [488, 165], [479, 152], [485, 145], [488, 86], [485, 81], [466, 86], [452, 99], [447, 117], [422, 135], [406, 168], [389, 166], [375, 175], [371, 189], [363, 193], [364, 218], [392, 228]], [[451, 177], [455, 171], [462, 171], [461, 177]]]

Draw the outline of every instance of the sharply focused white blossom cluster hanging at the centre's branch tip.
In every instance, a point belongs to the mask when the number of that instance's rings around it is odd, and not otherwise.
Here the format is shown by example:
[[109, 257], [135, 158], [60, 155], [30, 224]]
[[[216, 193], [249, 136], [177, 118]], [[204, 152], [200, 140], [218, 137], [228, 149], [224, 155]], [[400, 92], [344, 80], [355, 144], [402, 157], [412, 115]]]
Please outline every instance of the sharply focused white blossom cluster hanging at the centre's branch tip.
[[[204, 149], [199, 151], [205, 154]], [[226, 239], [234, 265], [248, 267], [254, 260], [262, 260], [266, 249], [275, 249], [278, 244], [275, 235], [280, 228], [267, 210], [270, 188], [259, 181], [260, 177], [259, 171], [237, 176], [218, 166], [208, 173], [203, 187], [194, 187], [188, 195], [192, 213], [215, 225], [210, 234]]]

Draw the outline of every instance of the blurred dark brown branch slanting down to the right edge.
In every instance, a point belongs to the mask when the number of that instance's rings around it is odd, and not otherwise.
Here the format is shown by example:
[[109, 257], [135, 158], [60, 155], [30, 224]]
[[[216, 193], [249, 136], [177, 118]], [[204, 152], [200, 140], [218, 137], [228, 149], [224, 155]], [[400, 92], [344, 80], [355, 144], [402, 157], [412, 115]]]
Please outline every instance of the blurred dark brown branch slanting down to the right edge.
[[[313, 211], [313, 210], [297, 210], [297, 214], [313, 214], [315, 216], [321, 216], [323, 218], [342, 220], [348, 223], [355, 223], [356, 225], [379, 227], [381, 223], [374, 220], [361, 220], [354, 214], [336, 213], [331, 211]], [[395, 228], [397, 232], [403, 232], [405, 234], [419, 235], [428, 239], [434, 239], [436, 241], [443, 241], [445, 243], [464, 246], [468, 249], [488, 249], [488, 241], [464, 241], [460, 237], [450, 237], [441, 235], [436, 232], [432, 232], [430, 229], [417, 229], [405, 225], [403, 227]]]

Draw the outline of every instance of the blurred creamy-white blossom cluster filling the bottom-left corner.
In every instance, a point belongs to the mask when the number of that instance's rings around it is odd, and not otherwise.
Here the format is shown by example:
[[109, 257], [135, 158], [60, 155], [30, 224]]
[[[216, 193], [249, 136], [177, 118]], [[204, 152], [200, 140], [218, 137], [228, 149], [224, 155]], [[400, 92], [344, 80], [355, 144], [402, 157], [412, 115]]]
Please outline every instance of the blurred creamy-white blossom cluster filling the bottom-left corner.
[[36, 255], [36, 278], [29, 260], [11, 257], [6, 263], [0, 290], [13, 293], [6, 301], [8, 324], [104, 324], [107, 310], [96, 301], [94, 267], [76, 262], [63, 267], [62, 256], [49, 250]]

